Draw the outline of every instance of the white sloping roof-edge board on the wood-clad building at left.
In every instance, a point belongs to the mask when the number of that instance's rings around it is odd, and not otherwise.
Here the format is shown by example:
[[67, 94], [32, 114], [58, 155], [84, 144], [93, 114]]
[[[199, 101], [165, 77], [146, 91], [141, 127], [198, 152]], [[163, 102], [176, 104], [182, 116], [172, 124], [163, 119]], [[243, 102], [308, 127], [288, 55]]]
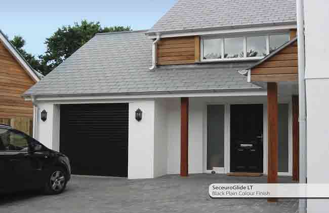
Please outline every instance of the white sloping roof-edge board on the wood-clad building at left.
[[39, 77], [34, 73], [32, 67], [25, 61], [16, 48], [8, 41], [4, 33], [0, 30], [0, 41], [4, 44], [5, 48], [14, 56], [18, 63], [25, 69], [26, 73], [35, 81], [40, 81]]

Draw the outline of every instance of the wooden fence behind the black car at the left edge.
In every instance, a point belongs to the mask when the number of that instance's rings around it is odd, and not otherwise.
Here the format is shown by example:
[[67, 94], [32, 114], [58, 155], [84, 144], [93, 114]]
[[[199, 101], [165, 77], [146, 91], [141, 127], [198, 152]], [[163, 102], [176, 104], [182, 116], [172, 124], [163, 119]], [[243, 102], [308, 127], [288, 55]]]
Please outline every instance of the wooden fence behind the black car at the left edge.
[[7, 124], [32, 136], [33, 134], [33, 118], [17, 117], [17, 118], [0, 118], [1, 124]]

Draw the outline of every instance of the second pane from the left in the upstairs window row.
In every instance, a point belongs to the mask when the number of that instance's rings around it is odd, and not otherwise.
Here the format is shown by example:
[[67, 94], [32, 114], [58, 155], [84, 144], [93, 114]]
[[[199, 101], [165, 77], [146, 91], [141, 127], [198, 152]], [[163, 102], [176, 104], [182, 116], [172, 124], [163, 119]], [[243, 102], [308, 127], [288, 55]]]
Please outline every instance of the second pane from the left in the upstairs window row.
[[224, 39], [225, 58], [243, 57], [243, 38]]

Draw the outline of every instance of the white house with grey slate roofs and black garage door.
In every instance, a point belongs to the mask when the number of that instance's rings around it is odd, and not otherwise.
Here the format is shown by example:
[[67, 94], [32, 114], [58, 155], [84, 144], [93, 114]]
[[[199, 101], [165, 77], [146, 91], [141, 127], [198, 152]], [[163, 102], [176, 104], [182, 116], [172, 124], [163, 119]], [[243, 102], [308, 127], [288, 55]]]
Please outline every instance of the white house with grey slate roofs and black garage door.
[[149, 30], [96, 34], [24, 93], [35, 137], [75, 174], [298, 180], [296, 29], [295, 0], [179, 0]]

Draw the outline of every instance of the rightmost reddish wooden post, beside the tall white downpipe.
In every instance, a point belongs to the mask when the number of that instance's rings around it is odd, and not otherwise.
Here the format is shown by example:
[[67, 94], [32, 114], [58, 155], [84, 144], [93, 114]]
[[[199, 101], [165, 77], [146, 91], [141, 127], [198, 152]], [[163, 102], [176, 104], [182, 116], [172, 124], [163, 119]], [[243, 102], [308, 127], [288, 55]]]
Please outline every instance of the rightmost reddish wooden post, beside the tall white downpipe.
[[299, 101], [293, 95], [293, 181], [299, 181]]

